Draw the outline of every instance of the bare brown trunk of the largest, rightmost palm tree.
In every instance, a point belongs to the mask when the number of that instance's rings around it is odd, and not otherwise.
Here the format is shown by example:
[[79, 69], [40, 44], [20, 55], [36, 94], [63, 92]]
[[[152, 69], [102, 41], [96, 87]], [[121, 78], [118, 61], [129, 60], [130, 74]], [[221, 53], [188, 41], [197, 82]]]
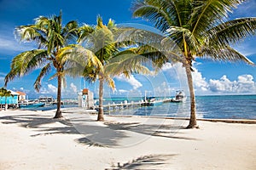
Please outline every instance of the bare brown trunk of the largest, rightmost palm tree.
[[189, 83], [189, 94], [190, 94], [190, 119], [189, 119], [189, 126], [187, 128], [198, 128], [196, 123], [196, 116], [195, 116], [195, 91], [193, 87], [193, 78], [192, 73], [190, 70], [190, 65], [187, 63], [185, 64], [186, 74]]

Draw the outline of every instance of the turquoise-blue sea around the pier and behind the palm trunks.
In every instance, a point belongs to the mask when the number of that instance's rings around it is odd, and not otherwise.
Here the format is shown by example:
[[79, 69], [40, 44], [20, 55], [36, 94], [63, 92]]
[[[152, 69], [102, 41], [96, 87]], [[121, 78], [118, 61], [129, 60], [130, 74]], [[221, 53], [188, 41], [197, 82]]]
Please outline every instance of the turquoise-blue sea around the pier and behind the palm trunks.
[[[104, 104], [141, 101], [143, 98], [111, 98], [104, 99]], [[162, 99], [162, 98], [159, 98]], [[196, 96], [197, 118], [217, 119], [256, 119], [256, 95], [214, 95]], [[78, 105], [62, 105], [63, 108], [77, 107]], [[55, 109], [55, 105], [31, 110], [47, 111]], [[166, 116], [189, 117], [189, 98], [182, 103], [163, 103], [162, 105], [116, 108], [104, 111], [106, 115], [123, 116]]]

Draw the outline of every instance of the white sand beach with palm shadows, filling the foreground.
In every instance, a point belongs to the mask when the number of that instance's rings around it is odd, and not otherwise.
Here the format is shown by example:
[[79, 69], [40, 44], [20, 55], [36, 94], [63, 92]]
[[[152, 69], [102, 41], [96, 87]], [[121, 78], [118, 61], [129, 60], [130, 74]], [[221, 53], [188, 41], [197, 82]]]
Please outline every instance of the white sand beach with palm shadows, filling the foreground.
[[256, 124], [54, 114], [0, 111], [1, 170], [256, 169]]

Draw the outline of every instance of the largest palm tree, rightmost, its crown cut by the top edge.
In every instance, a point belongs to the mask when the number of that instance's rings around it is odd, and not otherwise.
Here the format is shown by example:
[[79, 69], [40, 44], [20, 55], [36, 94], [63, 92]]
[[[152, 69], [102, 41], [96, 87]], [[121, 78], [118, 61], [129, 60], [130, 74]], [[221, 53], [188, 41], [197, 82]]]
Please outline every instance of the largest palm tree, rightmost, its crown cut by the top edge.
[[198, 127], [195, 116], [195, 91], [191, 71], [196, 57], [223, 61], [253, 62], [230, 47], [255, 34], [256, 18], [229, 20], [233, 8], [243, 0], [135, 0], [133, 16], [151, 21], [183, 51], [182, 63], [189, 83], [190, 121]]

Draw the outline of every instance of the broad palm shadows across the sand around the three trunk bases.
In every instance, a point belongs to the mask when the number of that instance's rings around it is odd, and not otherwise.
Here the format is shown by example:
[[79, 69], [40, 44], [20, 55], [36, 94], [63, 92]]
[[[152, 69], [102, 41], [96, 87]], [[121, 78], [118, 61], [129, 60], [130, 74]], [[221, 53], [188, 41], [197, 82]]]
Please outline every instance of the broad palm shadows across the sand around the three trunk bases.
[[[18, 124], [20, 127], [32, 128], [33, 132], [36, 132], [31, 135], [32, 137], [50, 134], [81, 134], [82, 138], [76, 139], [76, 142], [100, 147], [127, 147], [129, 144], [125, 140], [131, 142], [133, 136], [131, 134], [134, 133], [137, 133], [137, 136], [143, 136], [141, 139], [155, 136], [197, 140], [184, 136], [185, 134], [180, 131], [185, 128], [183, 126], [143, 124], [141, 122], [96, 122], [94, 119], [96, 116], [74, 112], [66, 112], [65, 118], [53, 119], [50, 115], [54, 115], [54, 111], [52, 113], [48, 112], [45, 115], [44, 112], [19, 114], [17, 111], [17, 114], [11, 116], [1, 116], [0, 121], [3, 124]], [[56, 124], [56, 122], [58, 123]]]

